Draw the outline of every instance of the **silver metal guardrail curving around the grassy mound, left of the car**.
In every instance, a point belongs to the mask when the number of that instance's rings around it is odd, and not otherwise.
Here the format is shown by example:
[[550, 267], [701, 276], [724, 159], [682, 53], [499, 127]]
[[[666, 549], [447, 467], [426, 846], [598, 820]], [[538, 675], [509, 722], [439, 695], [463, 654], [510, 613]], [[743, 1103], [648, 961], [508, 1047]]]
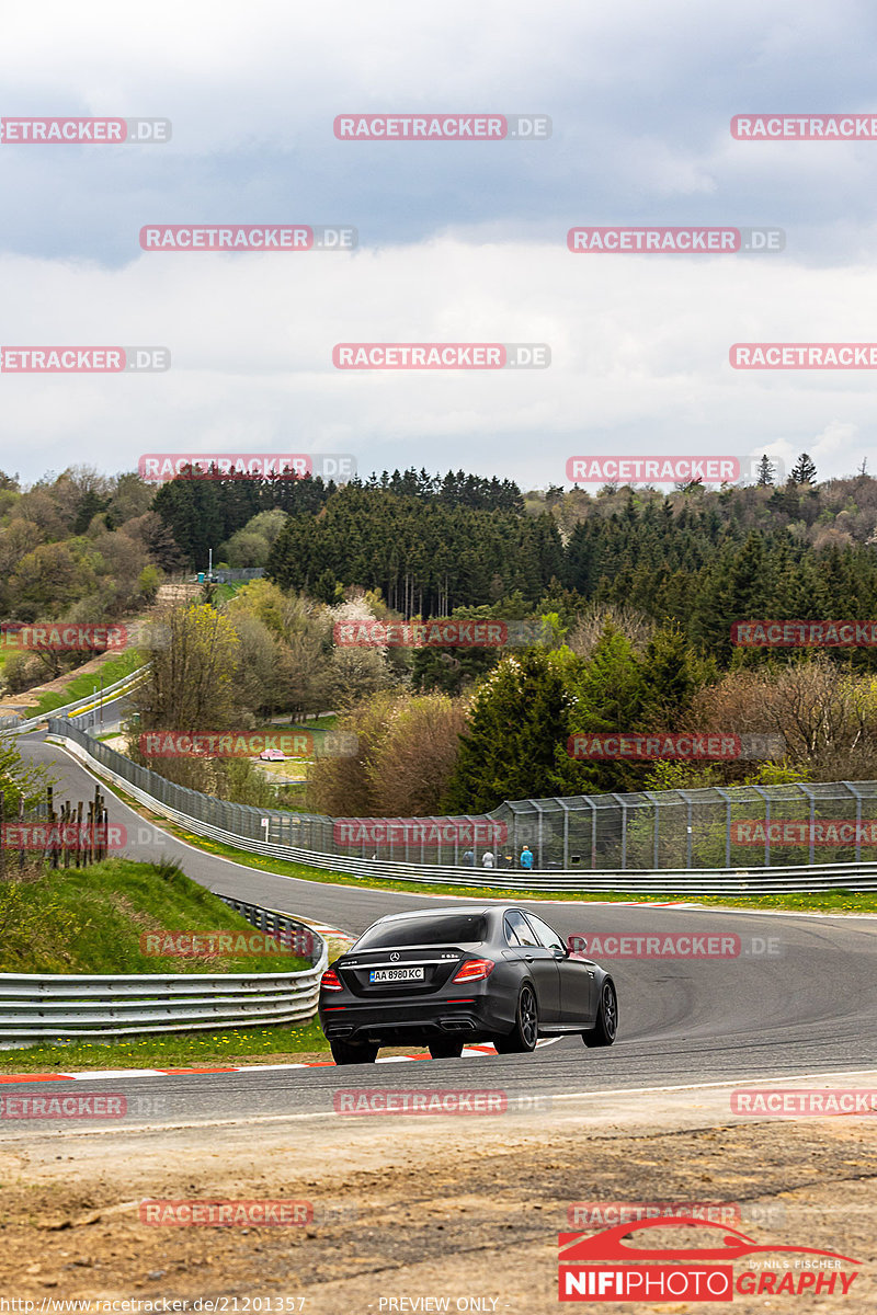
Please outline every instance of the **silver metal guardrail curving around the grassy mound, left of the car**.
[[249, 974], [0, 973], [0, 1039], [75, 1040], [312, 1019], [329, 963], [323, 938], [288, 914], [220, 898], [252, 926], [297, 934], [302, 948], [296, 952], [312, 967]]

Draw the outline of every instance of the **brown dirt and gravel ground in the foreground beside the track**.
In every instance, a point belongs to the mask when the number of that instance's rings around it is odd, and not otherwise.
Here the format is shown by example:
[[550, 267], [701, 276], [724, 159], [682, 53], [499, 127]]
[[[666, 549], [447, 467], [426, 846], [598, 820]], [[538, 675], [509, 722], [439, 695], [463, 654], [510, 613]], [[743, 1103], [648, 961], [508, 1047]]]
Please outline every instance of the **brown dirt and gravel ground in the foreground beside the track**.
[[[727, 1093], [715, 1089], [643, 1099], [555, 1099], [538, 1116], [283, 1115], [16, 1134], [0, 1143], [0, 1295], [46, 1315], [70, 1298], [83, 1311], [107, 1311], [100, 1302], [113, 1298], [145, 1303], [129, 1310], [162, 1299], [199, 1310], [201, 1298], [200, 1308], [221, 1299], [220, 1311], [531, 1315], [559, 1308], [557, 1233], [575, 1228], [572, 1205], [685, 1201], [739, 1205], [732, 1227], [760, 1244], [861, 1264], [845, 1299], [735, 1294], [734, 1310], [803, 1301], [811, 1312], [877, 1311], [870, 1119], [721, 1122]], [[139, 1218], [145, 1198], [309, 1202], [313, 1219], [153, 1226]], [[680, 1240], [664, 1232], [664, 1245]], [[723, 1308], [623, 1304], [631, 1315]]]

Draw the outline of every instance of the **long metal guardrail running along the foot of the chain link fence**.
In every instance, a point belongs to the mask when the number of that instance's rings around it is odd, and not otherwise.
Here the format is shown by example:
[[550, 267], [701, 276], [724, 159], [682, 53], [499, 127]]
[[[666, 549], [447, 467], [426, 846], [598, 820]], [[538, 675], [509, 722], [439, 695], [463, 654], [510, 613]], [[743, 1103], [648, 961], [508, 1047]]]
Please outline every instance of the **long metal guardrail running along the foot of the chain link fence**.
[[[323, 868], [352, 877], [383, 877], [414, 885], [440, 884], [497, 892], [539, 890], [567, 892], [571, 894], [577, 892], [584, 894], [588, 892], [611, 890], [625, 894], [680, 894], [694, 897], [703, 894], [757, 896], [815, 890], [877, 890], [877, 863], [835, 863], [782, 868], [676, 867], [664, 871], [657, 868], [534, 868], [530, 872], [517, 869], [502, 877], [500, 874], [502, 869], [497, 871], [496, 868], [396, 863], [384, 859], [354, 859], [348, 855], [314, 851], [302, 846], [291, 846], [263, 839], [262, 836], [271, 835], [275, 814], [270, 810], [260, 813], [259, 809], [243, 809], [242, 805], [225, 803], [221, 800], [208, 796], [197, 796], [196, 790], [184, 789], [183, 786], [174, 785], [171, 781], [166, 781], [163, 777], [156, 776], [156, 773], [138, 767], [130, 759], [124, 757], [124, 755], [117, 753], [114, 750], [108, 750], [105, 744], [91, 740], [82, 731], [63, 722], [59, 722], [57, 726], [50, 723], [49, 730], [53, 735], [71, 740], [75, 746], [74, 752], [76, 756], [82, 757], [97, 775], [120, 785], [139, 803], [170, 818], [172, 822], [178, 822], [193, 835], [218, 840], [252, 853], [281, 859], [287, 863], [301, 863], [310, 868]], [[109, 765], [110, 761], [122, 764], [124, 775], [114, 771]], [[159, 789], [164, 793], [164, 798], [159, 794], [153, 794], [143, 785], [134, 784], [133, 777], [135, 773], [143, 773], [142, 777], [137, 778], [142, 780], [146, 785], [151, 784], [150, 778], [160, 782]], [[208, 800], [208, 802], [216, 805], [217, 810], [225, 810], [229, 818], [233, 818], [238, 809], [243, 809], [246, 814], [254, 814], [255, 818], [249, 834], [242, 835], [241, 831], [216, 826], [193, 815], [193, 813], [174, 807], [168, 802], [168, 797], [178, 798], [180, 794], [183, 797], [193, 796], [199, 800]], [[291, 814], [285, 814], [285, 821], [289, 821], [289, 818]], [[259, 821], [264, 822], [264, 826], [259, 826]]]

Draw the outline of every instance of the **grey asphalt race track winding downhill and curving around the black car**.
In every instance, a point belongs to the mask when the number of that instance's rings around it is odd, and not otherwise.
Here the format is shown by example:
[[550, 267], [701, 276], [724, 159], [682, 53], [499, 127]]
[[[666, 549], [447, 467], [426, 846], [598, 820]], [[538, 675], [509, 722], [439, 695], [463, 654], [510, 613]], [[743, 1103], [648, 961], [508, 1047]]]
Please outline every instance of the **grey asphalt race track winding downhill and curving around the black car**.
[[[92, 796], [95, 778], [63, 750], [38, 736], [20, 743], [25, 756], [57, 771], [59, 798]], [[131, 857], [178, 859], [192, 878], [212, 890], [354, 934], [381, 914], [437, 903], [429, 896], [360, 890], [239, 867], [192, 849], [104, 789], [110, 822], [128, 828]], [[588, 1051], [577, 1038], [563, 1038], [542, 1044], [531, 1056], [172, 1077], [120, 1072], [87, 1082], [53, 1082], [51, 1093], [68, 1088], [78, 1094], [124, 1093], [130, 1122], [167, 1126], [330, 1115], [333, 1094], [342, 1086], [422, 1089], [452, 1084], [502, 1088], [521, 1095], [609, 1094], [877, 1068], [877, 918], [550, 901], [533, 907], [564, 936], [736, 934], [742, 953], [724, 960], [602, 956], [615, 978], [621, 1007], [619, 1040], [610, 1049]], [[4, 1094], [17, 1090], [33, 1093], [34, 1088], [4, 1084]]]

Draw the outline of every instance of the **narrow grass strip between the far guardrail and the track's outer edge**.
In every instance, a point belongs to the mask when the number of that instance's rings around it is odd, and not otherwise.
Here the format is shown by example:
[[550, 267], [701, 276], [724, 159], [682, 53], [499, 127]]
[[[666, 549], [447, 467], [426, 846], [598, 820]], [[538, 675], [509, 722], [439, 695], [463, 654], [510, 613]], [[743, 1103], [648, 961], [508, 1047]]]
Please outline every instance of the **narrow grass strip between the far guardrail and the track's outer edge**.
[[[180, 840], [185, 840], [196, 849], [205, 853], [216, 853], [224, 859], [231, 859], [246, 868], [258, 872], [273, 872], [283, 877], [298, 877], [302, 881], [317, 881], [322, 885], [363, 886], [367, 890], [405, 890], [409, 894], [446, 894], [465, 896], [473, 899], [560, 899], [568, 903], [617, 903], [618, 901], [642, 901], [646, 903], [665, 903], [668, 899], [680, 899], [685, 903], [703, 905], [705, 907], [731, 907], [731, 909], [785, 909], [801, 913], [877, 913], [876, 892], [830, 890], [803, 894], [774, 894], [774, 896], [685, 896], [677, 893], [652, 893], [630, 890], [600, 890], [584, 893], [529, 890], [526, 886], [513, 890], [492, 890], [488, 886], [448, 886], [440, 882], [419, 881], [392, 881], [380, 877], [352, 877], [343, 872], [326, 872], [322, 868], [309, 868], [302, 863], [284, 863], [281, 859], [263, 857], [250, 853], [247, 849], [238, 849], [230, 844], [221, 844], [217, 840], [208, 840], [204, 836], [193, 835], [176, 823], [170, 822], [158, 813], [151, 813], [141, 803], [125, 794], [124, 790], [114, 789], [114, 793], [139, 813], [141, 817], [155, 822], [163, 830], [170, 831]], [[341, 918], [343, 922], [343, 917]], [[343, 930], [343, 928], [342, 928]]]

